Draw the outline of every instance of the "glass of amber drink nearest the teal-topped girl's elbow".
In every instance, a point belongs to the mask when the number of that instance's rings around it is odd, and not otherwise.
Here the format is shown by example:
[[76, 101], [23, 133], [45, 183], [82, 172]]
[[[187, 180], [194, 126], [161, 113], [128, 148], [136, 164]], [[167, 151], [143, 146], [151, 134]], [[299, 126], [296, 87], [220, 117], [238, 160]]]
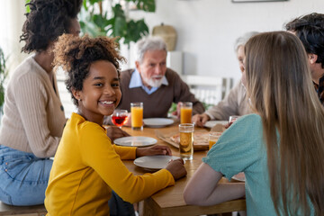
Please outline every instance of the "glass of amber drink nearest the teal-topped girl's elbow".
[[193, 159], [193, 123], [179, 124], [180, 132], [180, 157], [184, 160]]

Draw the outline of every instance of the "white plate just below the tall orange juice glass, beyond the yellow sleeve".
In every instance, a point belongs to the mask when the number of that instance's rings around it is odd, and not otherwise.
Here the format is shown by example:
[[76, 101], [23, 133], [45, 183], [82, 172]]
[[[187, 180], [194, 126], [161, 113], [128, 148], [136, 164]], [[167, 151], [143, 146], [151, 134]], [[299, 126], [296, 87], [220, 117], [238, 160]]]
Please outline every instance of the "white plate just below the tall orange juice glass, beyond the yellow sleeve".
[[123, 137], [115, 139], [114, 144], [127, 147], [147, 147], [157, 143], [157, 139], [150, 137]]

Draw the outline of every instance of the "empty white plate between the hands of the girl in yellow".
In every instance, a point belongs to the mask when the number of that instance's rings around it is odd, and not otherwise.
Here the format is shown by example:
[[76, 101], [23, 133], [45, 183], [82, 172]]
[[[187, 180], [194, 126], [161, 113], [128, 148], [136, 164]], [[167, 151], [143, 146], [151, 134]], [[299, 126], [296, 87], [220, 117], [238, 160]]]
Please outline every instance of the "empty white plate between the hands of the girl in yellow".
[[167, 163], [173, 159], [180, 157], [175, 156], [144, 156], [138, 157], [134, 160], [134, 165], [148, 169], [148, 170], [158, 170], [165, 168]]

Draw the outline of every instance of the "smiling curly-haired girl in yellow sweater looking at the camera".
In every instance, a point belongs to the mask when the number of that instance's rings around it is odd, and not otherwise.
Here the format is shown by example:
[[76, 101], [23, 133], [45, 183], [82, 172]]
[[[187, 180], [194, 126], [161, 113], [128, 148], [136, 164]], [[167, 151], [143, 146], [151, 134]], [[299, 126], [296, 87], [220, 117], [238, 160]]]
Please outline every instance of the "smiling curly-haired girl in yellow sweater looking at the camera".
[[112, 145], [103, 128], [121, 100], [119, 61], [114, 40], [63, 35], [55, 49], [56, 67], [68, 74], [67, 89], [77, 113], [63, 131], [49, 176], [45, 206], [49, 215], [109, 215], [112, 190], [126, 202], [139, 202], [186, 175], [182, 160], [153, 174], [133, 175], [121, 159], [170, 155], [166, 146]]

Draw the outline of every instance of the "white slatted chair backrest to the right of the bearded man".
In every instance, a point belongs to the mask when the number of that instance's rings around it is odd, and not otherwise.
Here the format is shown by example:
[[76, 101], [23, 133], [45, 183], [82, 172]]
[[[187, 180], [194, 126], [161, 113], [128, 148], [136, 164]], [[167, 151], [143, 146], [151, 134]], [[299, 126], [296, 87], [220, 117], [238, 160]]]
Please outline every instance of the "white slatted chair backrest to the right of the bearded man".
[[220, 76], [182, 76], [190, 91], [203, 103], [219, 103], [233, 86], [233, 78]]

